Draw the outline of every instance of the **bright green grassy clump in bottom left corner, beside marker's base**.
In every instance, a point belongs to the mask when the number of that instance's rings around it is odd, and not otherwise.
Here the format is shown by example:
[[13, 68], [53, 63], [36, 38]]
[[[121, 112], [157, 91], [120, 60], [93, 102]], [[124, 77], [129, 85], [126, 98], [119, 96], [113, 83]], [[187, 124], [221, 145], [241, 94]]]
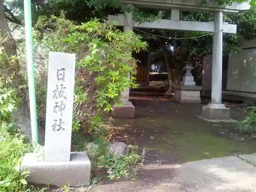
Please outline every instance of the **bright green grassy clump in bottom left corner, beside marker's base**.
[[10, 124], [3, 123], [0, 130], [0, 191], [22, 191], [26, 189], [28, 172], [20, 170], [20, 158], [30, 150], [24, 137], [10, 133]]

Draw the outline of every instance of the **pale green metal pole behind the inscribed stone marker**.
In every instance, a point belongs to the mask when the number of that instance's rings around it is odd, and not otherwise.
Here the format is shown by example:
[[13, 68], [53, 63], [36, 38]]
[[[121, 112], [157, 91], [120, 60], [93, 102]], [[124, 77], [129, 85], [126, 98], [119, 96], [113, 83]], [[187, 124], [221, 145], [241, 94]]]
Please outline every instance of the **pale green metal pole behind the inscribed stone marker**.
[[29, 83], [31, 134], [32, 134], [32, 142], [38, 143], [36, 96], [35, 96], [35, 69], [34, 69], [34, 63], [33, 63], [31, 0], [24, 0], [24, 13], [25, 13], [25, 33], [26, 33], [27, 69], [28, 69], [28, 83]]

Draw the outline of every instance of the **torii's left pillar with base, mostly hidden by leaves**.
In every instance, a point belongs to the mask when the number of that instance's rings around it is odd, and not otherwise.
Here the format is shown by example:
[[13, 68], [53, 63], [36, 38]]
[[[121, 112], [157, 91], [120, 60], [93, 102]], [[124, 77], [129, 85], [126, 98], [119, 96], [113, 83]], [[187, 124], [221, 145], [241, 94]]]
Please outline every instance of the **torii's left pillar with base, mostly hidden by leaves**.
[[[125, 23], [123, 27], [124, 32], [133, 31], [133, 15], [132, 13], [124, 13]], [[130, 74], [128, 74], [130, 77]], [[127, 88], [121, 93], [122, 106], [114, 106], [113, 116], [123, 118], [134, 118], [135, 117], [135, 106], [129, 101], [130, 88]]]

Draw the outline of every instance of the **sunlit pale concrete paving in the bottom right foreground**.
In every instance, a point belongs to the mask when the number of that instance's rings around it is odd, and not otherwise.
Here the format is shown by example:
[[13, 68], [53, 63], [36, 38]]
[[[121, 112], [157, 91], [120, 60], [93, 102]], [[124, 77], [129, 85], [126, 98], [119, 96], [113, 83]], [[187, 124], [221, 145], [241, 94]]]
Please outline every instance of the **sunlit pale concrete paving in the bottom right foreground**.
[[[93, 191], [254, 192], [256, 189], [256, 167], [235, 156], [151, 168], [157, 169], [158, 180], [115, 182], [96, 186]], [[146, 172], [147, 168], [143, 170]]]

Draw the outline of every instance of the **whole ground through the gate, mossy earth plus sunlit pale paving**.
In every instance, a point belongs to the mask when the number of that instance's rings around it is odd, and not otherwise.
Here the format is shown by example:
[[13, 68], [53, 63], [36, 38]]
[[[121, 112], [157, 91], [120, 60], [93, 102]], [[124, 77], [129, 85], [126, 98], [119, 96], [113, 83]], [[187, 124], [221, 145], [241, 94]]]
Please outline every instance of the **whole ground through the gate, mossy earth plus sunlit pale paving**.
[[[197, 104], [154, 97], [132, 102], [136, 118], [118, 119], [120, 130], [113, 139], [139, 146], [146, 165], [137, 167], [135, 181], [104, 181], [93, 191], [254, 191], [255, 167], [232, 155], [254, 153], [256, 143], [234, 130], [235, 124], [200, 120], [195, 115], [201, 115], [202, 106]], [[249, 112], [238, 104], [225, 104], [233, 119], [242, 120]]]

